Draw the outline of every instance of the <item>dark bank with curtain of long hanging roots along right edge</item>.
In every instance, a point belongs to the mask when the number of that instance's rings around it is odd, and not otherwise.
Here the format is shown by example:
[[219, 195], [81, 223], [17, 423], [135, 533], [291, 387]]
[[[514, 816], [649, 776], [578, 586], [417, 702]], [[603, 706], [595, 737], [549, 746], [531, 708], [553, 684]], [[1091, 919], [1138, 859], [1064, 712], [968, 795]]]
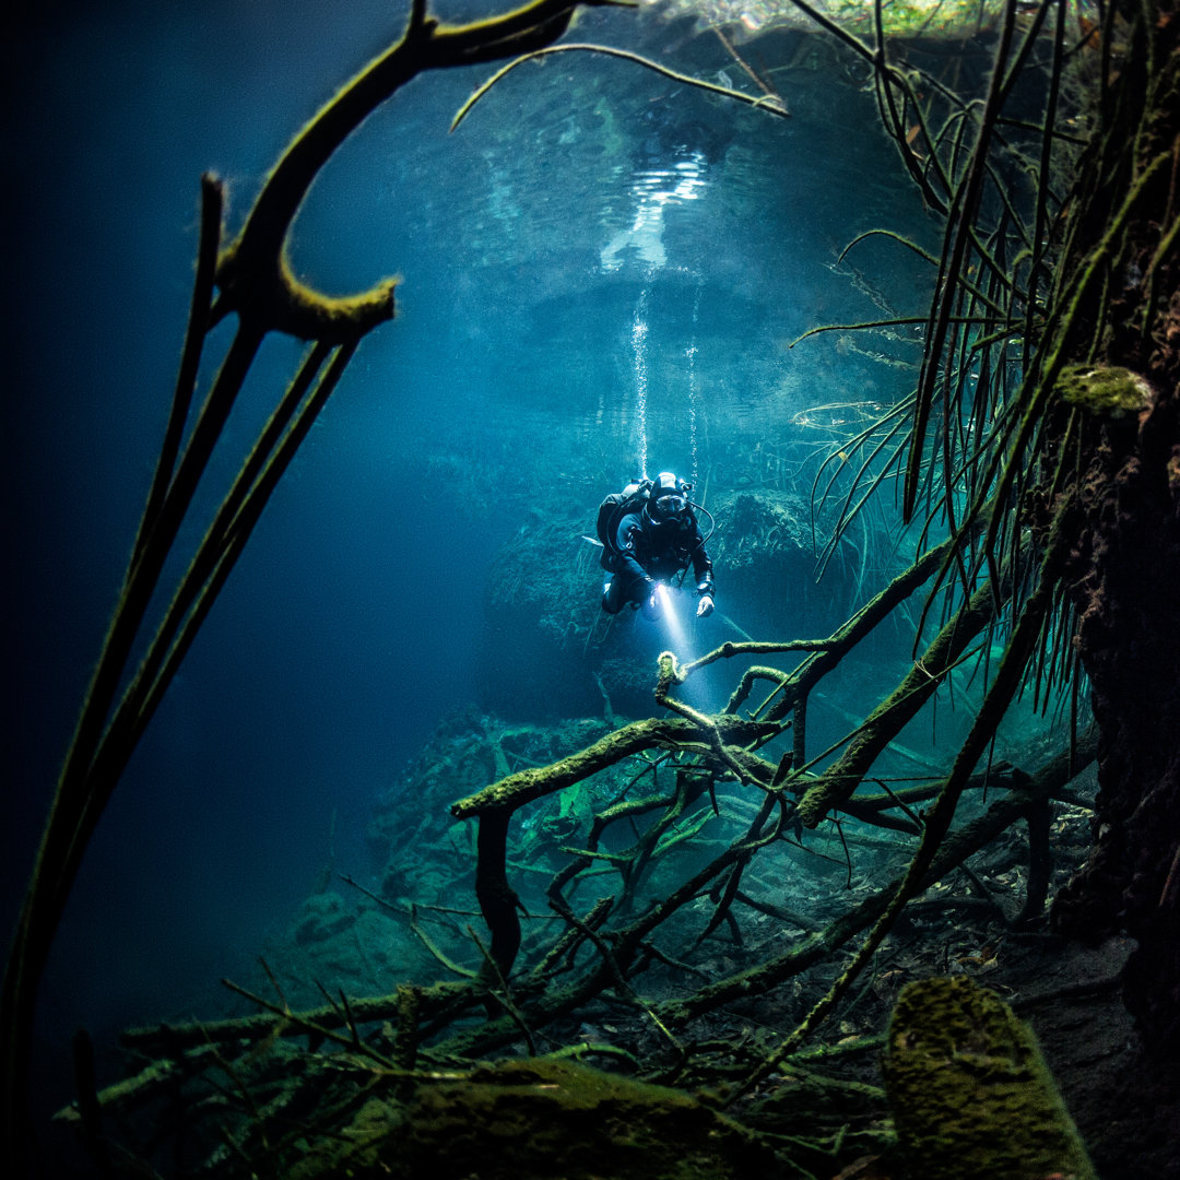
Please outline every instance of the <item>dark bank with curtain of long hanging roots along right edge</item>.
[[[926, 526], [937, 518], [950, 531], [939, 579], [957, 583], [955, 601], [986, 579], [1007, 604], [1011, 638], [981, 736], [994, 732], [1004, 682], [1043, 700], [1071, 681], [1075, 715], [1088, 686], [1102, 735], [1101, 834], [1055, 924], [1140, 939], [1127, 1001], [1153, 1041], [1174, 1048], [1180, 844], [1166, 817], [1180, 802], [1180, 615], [1167, 588], [1180, 572], [1180, 51], [1173, 4], [1113, 4], [1101, 20], [1074, 25], [1063, 4], [1023, 18], [1007, 6], [970, 148], [964, 109], [951, 101], [937, 123], [918, 76], [889, 64], [879, 17], [874, 45], [858, 48], [874, 63], [885, 127], [946, 216], [906, 430], [890, 424], [884, 441], [870, 431], [845, 451], [861, 463], [858, 479], [884, 479], [896, 463], [903, 516], [925, 505]], [[1004, 113], [1030, 71], [1044, 76], [1031, 127]], [[890, 458], [873, 467], [865, 457], [883, 446]], [[865, 494], [848, 492], [845, 516]]]

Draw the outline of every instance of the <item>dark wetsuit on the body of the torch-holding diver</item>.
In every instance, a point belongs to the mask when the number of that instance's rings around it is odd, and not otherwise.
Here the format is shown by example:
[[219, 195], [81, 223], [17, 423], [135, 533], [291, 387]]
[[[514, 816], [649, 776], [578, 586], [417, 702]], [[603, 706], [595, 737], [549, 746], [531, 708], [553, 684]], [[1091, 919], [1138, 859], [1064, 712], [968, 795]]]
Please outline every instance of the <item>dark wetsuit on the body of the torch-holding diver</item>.
[[649, 578], [668, 581], [693, 564], [697, 586], [713, 594], [713, 563], [704, 551], [704, 537], [693, 512], [656, 520], [647, 506], [628, 512], [615, 531], [615, 550], [603, 562], [615, 573], [602, 596], [602, 609], [617, 615], [624, 603], [647, 601]]

